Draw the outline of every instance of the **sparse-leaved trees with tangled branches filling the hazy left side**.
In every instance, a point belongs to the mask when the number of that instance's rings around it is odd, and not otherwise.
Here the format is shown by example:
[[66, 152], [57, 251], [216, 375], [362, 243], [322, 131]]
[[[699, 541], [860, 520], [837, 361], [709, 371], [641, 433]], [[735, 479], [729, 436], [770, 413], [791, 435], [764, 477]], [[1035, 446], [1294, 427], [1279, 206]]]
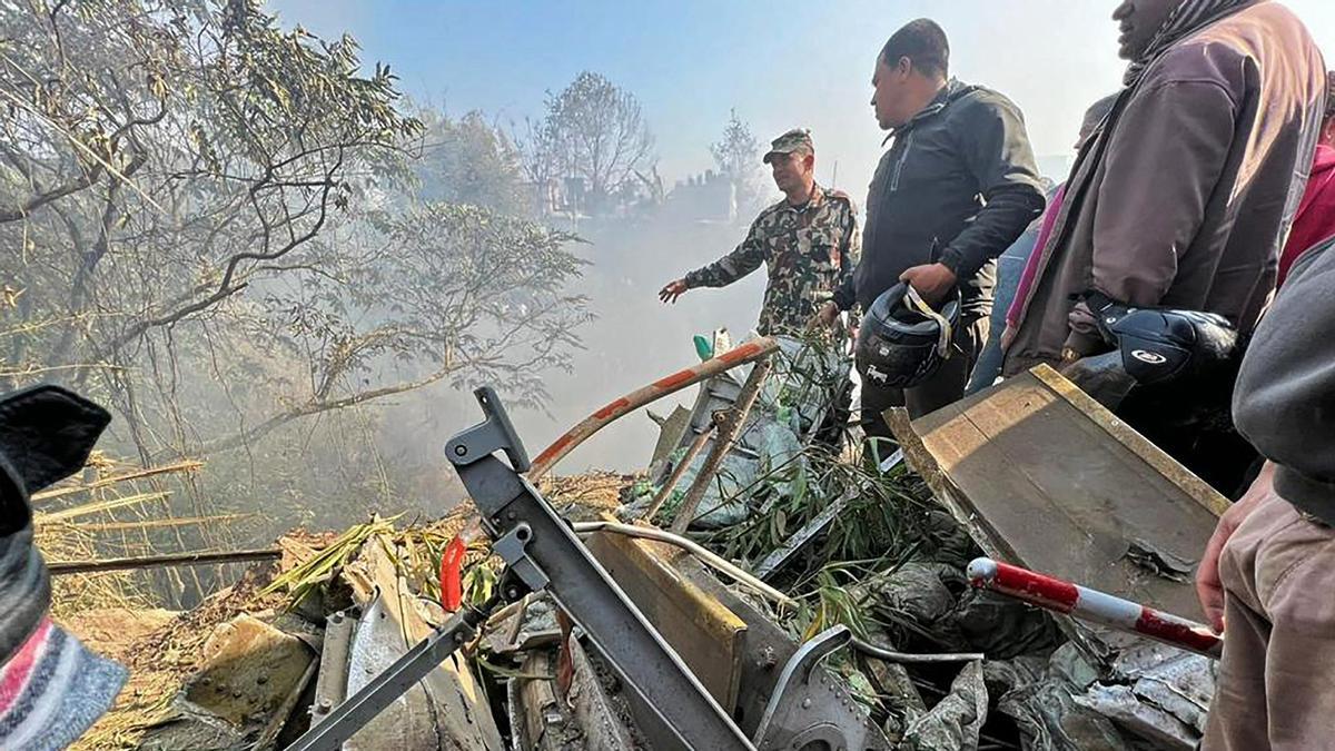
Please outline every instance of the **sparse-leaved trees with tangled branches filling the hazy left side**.
[[[350, 496], [390, 492], [351, 477], [378, 449], [360, 413], [362, 433], [331, 434], [339, 413], [483, 377], [542, 398], [529, 386], [583, 317], [559, 293], [567, 238], [405, 214], [423, 124], [351, 37], [186, 0], [11, 4], [0, 29], [4, 388], [65, 382], [113, 409], [113, 450], [208, 453], [215, 494], [298, 502], [311, 465]], [[477, 255], [493, 266], [461, 261]], [[304, 441], [262, 446], [314, 416]]]

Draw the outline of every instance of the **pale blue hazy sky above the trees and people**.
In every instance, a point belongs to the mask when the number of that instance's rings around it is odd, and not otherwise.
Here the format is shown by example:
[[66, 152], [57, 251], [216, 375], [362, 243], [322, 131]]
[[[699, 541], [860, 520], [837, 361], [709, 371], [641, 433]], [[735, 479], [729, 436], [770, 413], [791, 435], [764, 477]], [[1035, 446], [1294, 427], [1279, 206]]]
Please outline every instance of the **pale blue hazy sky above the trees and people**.
[[[870, 75], [885, 39], [918, 16], [951, 39], [952, 73], [1024, 111], [1040, 156], [1063, 156], [1089, 103], [1117, 87], [1116, 0], [474, 1], [280, 0], [288, 24], [350, 32], [405, 91], [501, 123], [541, 111], [579, 71], [643, 104], [669, 184], [712, 167], [708, 144], [736, 107], [762, 140], [810, 127], [818, 179], [861, 200], [880, 155]], [[1291, 0], [1335, 53], [1335, 3]]]

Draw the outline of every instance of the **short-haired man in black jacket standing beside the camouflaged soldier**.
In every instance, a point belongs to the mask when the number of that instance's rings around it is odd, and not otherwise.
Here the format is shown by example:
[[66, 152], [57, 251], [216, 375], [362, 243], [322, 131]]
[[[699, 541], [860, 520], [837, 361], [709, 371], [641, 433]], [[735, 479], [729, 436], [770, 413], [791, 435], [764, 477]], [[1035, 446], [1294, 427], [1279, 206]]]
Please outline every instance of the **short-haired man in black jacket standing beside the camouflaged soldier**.
[[864, 309], [906, 281], [928, 301], [959, 290], [963, 315], [952, 357], [906, 390], [862, 384], [869, 438], [889, 437], [881, 413], [906, 405], [914, 417], [964, 396], [988, 335], [996, 257], [1044, 206], [1020, 110], [1005, 96], [948, 76], [951, 49], [934, 21], [894, 32], [876, 61], [872, 107], [894, 143], [881, 156], [866, 200], [862, 259], [821, 310]]

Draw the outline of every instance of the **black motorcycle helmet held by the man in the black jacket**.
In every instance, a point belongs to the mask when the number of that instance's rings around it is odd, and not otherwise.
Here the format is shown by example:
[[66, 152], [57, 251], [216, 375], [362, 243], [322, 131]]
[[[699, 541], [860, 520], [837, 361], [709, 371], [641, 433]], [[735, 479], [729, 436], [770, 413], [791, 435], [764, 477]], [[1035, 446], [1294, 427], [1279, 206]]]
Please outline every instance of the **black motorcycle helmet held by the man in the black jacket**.
[[933, 310], [906, 282], [881, 293], [857, 331], [854, 358], [864, 382], [908, 389], [936, 373], [951, 357], [960, 322], [960, 293]]

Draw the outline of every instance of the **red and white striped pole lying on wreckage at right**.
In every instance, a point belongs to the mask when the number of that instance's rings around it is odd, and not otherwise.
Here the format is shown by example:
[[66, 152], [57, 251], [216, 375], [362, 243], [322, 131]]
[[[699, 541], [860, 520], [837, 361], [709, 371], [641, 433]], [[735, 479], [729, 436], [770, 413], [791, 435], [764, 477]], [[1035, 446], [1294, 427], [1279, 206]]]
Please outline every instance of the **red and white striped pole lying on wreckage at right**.
[[1204, 624], [1113, 597], [1097, 589], [992, 559], [973, 559], [967, 573], [969, 584], [980, 589], [1000, 592], [1040, 608], [1163, 641], [1197, 655], [1218, 660], [1224, 649], [1223, 637]]

